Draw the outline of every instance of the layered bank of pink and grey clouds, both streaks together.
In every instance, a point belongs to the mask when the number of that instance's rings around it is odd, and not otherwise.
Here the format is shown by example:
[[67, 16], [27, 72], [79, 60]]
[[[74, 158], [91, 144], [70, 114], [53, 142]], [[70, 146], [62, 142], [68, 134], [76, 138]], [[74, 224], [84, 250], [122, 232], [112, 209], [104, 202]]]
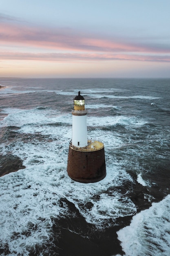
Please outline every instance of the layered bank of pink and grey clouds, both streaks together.
[[1, 60], [170, 62], [168, 39], [163, 43], [155, 38], [140, 41], [114, 33], [108, 36], [66, 27], [33, 26], [2, 14], [0, 45]]

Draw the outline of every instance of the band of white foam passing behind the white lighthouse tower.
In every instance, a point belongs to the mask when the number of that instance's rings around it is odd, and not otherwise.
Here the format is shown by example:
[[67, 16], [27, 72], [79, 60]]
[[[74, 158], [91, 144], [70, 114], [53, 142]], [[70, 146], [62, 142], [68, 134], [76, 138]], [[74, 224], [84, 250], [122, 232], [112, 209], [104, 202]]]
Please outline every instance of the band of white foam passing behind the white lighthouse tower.
[[[16, 108], [4, 108], [4, 113], [10, 113], [4, 117], [0, 126], [28, 126], [43, 125], [43, 124], [72, 124], [71, 113], [62, 114], [59, 110], [34, 108], [31, 110], [20, 110]], [[126, 116], [105, 116], [105, 117], [92, 117], [88, 116], [87, 126], [115, 126], [121, 124], [124, 126], [142, 126], [146, 121], [137, 119], [136, 117]], [[26, 129], [26, 127], [25, 127]], [[33, 127], [34, 129], [34, 127]], [[24, 127], [22, 127], [24, 130]]]

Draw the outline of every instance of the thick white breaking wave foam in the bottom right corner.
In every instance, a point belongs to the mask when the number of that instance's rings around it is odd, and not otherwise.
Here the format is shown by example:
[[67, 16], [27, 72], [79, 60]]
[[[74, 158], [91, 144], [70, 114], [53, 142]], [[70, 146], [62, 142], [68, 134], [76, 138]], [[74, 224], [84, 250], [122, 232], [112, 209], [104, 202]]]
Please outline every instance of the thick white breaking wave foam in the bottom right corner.
[[170, 254], [170, 195], [132, 218], [117, 232], [126, 256]]

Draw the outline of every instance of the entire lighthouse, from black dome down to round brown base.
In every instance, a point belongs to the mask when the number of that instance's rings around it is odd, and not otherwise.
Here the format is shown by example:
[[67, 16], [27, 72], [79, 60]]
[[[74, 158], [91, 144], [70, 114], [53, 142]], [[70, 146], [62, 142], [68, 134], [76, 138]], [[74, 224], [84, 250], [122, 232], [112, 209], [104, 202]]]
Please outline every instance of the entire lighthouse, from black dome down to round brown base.
[[87, 110], [80, 92], [73, 100], [72, 140], [67, 160], [67, 173], [72, 180], [98, 182], [106, 176], [104, 144], [87, 138]]

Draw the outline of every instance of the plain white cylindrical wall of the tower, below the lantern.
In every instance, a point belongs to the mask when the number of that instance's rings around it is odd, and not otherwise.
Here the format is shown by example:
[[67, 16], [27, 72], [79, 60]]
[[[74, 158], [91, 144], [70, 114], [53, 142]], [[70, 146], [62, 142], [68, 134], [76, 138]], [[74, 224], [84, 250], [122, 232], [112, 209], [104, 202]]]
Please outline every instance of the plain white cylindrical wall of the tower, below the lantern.
[[[81, 110], [78, 110], [81, 111]], [[72, 111], [72, 145], [78, 148], [87, 146], [87, 121], [86, 115], [74, 115]]]

